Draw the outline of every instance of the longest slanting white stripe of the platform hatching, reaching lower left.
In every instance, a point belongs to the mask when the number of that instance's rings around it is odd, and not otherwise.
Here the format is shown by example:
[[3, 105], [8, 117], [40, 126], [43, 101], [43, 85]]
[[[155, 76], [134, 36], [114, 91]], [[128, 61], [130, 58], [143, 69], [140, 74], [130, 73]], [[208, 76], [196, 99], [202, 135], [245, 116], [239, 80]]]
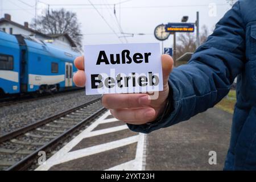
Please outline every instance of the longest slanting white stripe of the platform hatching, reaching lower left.
[[51, 168], [52, 166], [55, 166], [57, 164], [69, 162], [71, 160], [83, 158], [85, 156], [89, 156], [89, 155], [93, 155], [93, 154], [98, 154], [101, 152], [112, 150], [114, 148], [123, 147], [123, 146], [129, 145], [129, 144], [138, 142], [138, 140], [139, 140], [139, 135], [136, 135], [134, 137], [129, 137], [129, 138], [117, 140], [114, 142], [104, 143], [104, 144], [100, 144], [97, 146], [83, 148], [81, 150], [68, 152], [65, 156], [56, 155], [55, 158], [50, 158], [49, 160], [47, 160], [46, 165], [42, 165], [42, 166], [38, 167], [36, 170], [37, 171], [41, 171], [41, 170], [46, 171], [49, 168]]

